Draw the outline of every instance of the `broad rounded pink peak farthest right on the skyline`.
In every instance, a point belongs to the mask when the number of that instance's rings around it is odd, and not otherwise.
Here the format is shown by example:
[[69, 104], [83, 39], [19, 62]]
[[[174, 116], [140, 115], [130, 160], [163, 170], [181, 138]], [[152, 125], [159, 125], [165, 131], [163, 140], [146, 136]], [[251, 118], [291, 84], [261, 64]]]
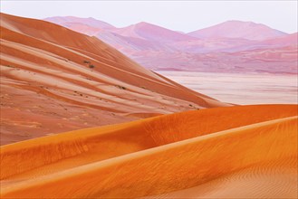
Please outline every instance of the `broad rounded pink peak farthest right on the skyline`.
[[187, 33], [197, 38], [242, 38], [253, 41], [262, 41], [286, 33], [274, 30], [264, 24], [255, 24], [253, 22], [227, 21], [222, 24], [216, 24], [201, 30]]

